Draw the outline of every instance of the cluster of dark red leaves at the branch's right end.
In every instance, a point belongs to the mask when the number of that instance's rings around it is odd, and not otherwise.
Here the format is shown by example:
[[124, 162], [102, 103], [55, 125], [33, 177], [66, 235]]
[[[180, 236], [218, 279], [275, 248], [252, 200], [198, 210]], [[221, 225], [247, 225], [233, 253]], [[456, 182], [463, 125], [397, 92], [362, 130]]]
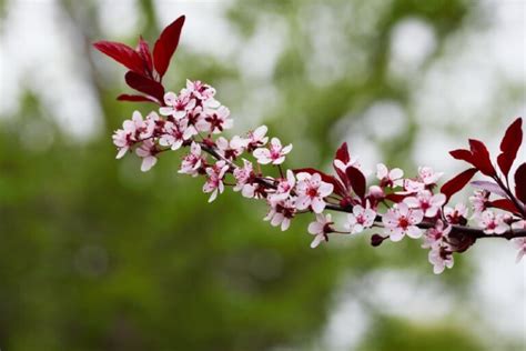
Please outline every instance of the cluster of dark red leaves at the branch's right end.
[[526, 162], [522, 163], [515, 171], [515, 191], [512, 191], [508, 185], [509, 171], [523, 142], [522, 127], [523, 119], [517, 118], [504, 134], [500, 142], [500, 154], [497, 157], [500, 174], [494, 167], [486, 146], [479, 140], [469, 139], [469, 150], [457, 149], [451, 151], [449, 153], [455, 159], [466, 161], [473, 167], [446, 182], [442, 187], [441, 192], [449, 199], [453, 194], [461, 191], [477, 172], [481, 172], [494, 181], [477, 182], [483, 189], [494, 193], [499, 193], [498, 190], [495, 191], [494, 189], [500, 189], [504, 194], [503, 199], [492, 201], [490, 205], [524, 217], [526, 213]]

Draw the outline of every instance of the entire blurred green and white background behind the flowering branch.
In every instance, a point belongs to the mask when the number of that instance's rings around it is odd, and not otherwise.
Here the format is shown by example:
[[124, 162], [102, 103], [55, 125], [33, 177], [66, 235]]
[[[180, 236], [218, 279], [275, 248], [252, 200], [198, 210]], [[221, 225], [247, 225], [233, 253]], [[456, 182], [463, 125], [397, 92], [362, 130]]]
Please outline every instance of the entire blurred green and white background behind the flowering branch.
[[[468, 137], [496, 152], [525, 116], [520, 0], [0, 0], [0, 348], [32, 350], [524, 350], [526, 265], [485, 240], [434, 275], [417, 242], [308, 247], [265, 208], [114, 160], [134, 46], [186, 14], [169, 76], [213, 84], [235, 129], [328, 169], [342, 141], [374, 169], [448, 176]], [[524, 151], [524, 149], [523, 149]], [[520, 156], [523, 160], [525, 154]], [[457, 200], [465, 200], [466, 194]]]

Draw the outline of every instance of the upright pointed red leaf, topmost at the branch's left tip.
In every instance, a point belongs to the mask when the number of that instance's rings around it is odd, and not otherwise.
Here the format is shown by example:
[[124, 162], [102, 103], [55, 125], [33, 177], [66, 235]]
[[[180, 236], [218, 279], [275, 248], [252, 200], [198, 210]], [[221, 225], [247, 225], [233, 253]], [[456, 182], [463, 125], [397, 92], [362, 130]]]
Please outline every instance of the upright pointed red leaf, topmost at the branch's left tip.
[[155, 66], [155, 71], [158, 71], [161, 78], [166, 72], [168, 66], [170, 64], [170, 59], [178, 48], [183, 24], [184, 16], [181, 16], [170, 26], [168, 26], [162, 31], [158, 41], [155, 41], [155, 46], [153, 47], [153, 63]]

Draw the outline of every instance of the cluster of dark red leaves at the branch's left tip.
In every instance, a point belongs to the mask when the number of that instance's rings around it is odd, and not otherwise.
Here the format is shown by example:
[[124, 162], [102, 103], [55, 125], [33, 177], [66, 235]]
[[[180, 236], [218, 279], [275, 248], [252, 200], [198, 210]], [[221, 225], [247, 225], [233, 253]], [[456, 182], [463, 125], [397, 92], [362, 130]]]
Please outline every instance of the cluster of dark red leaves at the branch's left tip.
[[170, 60], [175, 52], [184, 24], [181, 16], [168, 26], [155, 41], [153, 53], [142, 37], [135, 49], [113, 41], [98, 41], [93, 46], [102, 53], [129, 69], [124, 79], [130, 88], [143, 94], [121, 94], [121, 101], [146, 101], [164, 106], [162, 78], [166, 73]]

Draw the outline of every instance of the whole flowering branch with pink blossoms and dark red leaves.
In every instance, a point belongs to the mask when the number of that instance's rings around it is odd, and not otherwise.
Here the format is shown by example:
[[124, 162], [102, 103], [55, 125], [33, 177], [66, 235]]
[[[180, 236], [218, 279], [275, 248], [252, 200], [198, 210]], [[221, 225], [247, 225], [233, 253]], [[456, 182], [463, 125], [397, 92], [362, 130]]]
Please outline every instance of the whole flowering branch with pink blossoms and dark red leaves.
[[[141, 94], [121, 94], [119, 100], [146, 101], [159, 104], [158, 111], [145, 118], [139, 111], [123, 122], [113, 134], [117, 158], [134, 151], [142, 159], [141, 170], [149, 171], [161, 153], [182, 148], [190, 150], [181, 163], [180, 173], [203, 177], [203, 192], [209, 202], [224, 192], [225, 187], [249, 199], [266, 202], [265, 221], [282, 230], [289, 229], [299, 214], [314, 213], [307, 231], [312, 248], [328, 241], [332, 234], [357, 234], [378, 229], [371, 243], [423, 238], [429, 250], [434, 272], [453, 267], [453, 253], [464, 252], [478, 239], [514, 240], [519, 252], [526, 253], [526, 163], [513, 177], [510, 169], [523, 141], [522, 118], [506, 131], [497, 158], [498, 171], [485, 144], [469, 140], [469, 150], [451, 154], [471, 168], [437, 189], [443, 173], [419, 167], [415, 177], [406, 178], [398, 169], [376, 166], [374, 184], [367, 184], [370, 172], [357, 158], [351, 157], [344, 142], [333, 160], [334, 176], [313, 168], [286, 169], [284, 162], [292, 144], [280, 139], [269, 140], [267, 128], [260, 126], [246, 136], [230, 140], [220, 136], [231, 129], [230, 110], [215, 99], [215, 89], [201, 81], [186, 81], [179, 93], [166, 92], [162, 78], [178, 47], [184, 17], [166, 27], [155, 42], [153, 53], [140, 38], [136, 49], [122, 43], [100, 41], [94, 47], [129, 69], [127, 83]], [[264, 173], [273, 168], [277, 177]], [[482, 173], [488, 180], [472, 181]], [[464, 203], [448, 205], [451, 198], [471, 183], [476, 190], [469, 198], [473, 214]], [[328, 211], [346, 213], [341, 227]], [[471, 222], [475, 222], [474, 224]]]

